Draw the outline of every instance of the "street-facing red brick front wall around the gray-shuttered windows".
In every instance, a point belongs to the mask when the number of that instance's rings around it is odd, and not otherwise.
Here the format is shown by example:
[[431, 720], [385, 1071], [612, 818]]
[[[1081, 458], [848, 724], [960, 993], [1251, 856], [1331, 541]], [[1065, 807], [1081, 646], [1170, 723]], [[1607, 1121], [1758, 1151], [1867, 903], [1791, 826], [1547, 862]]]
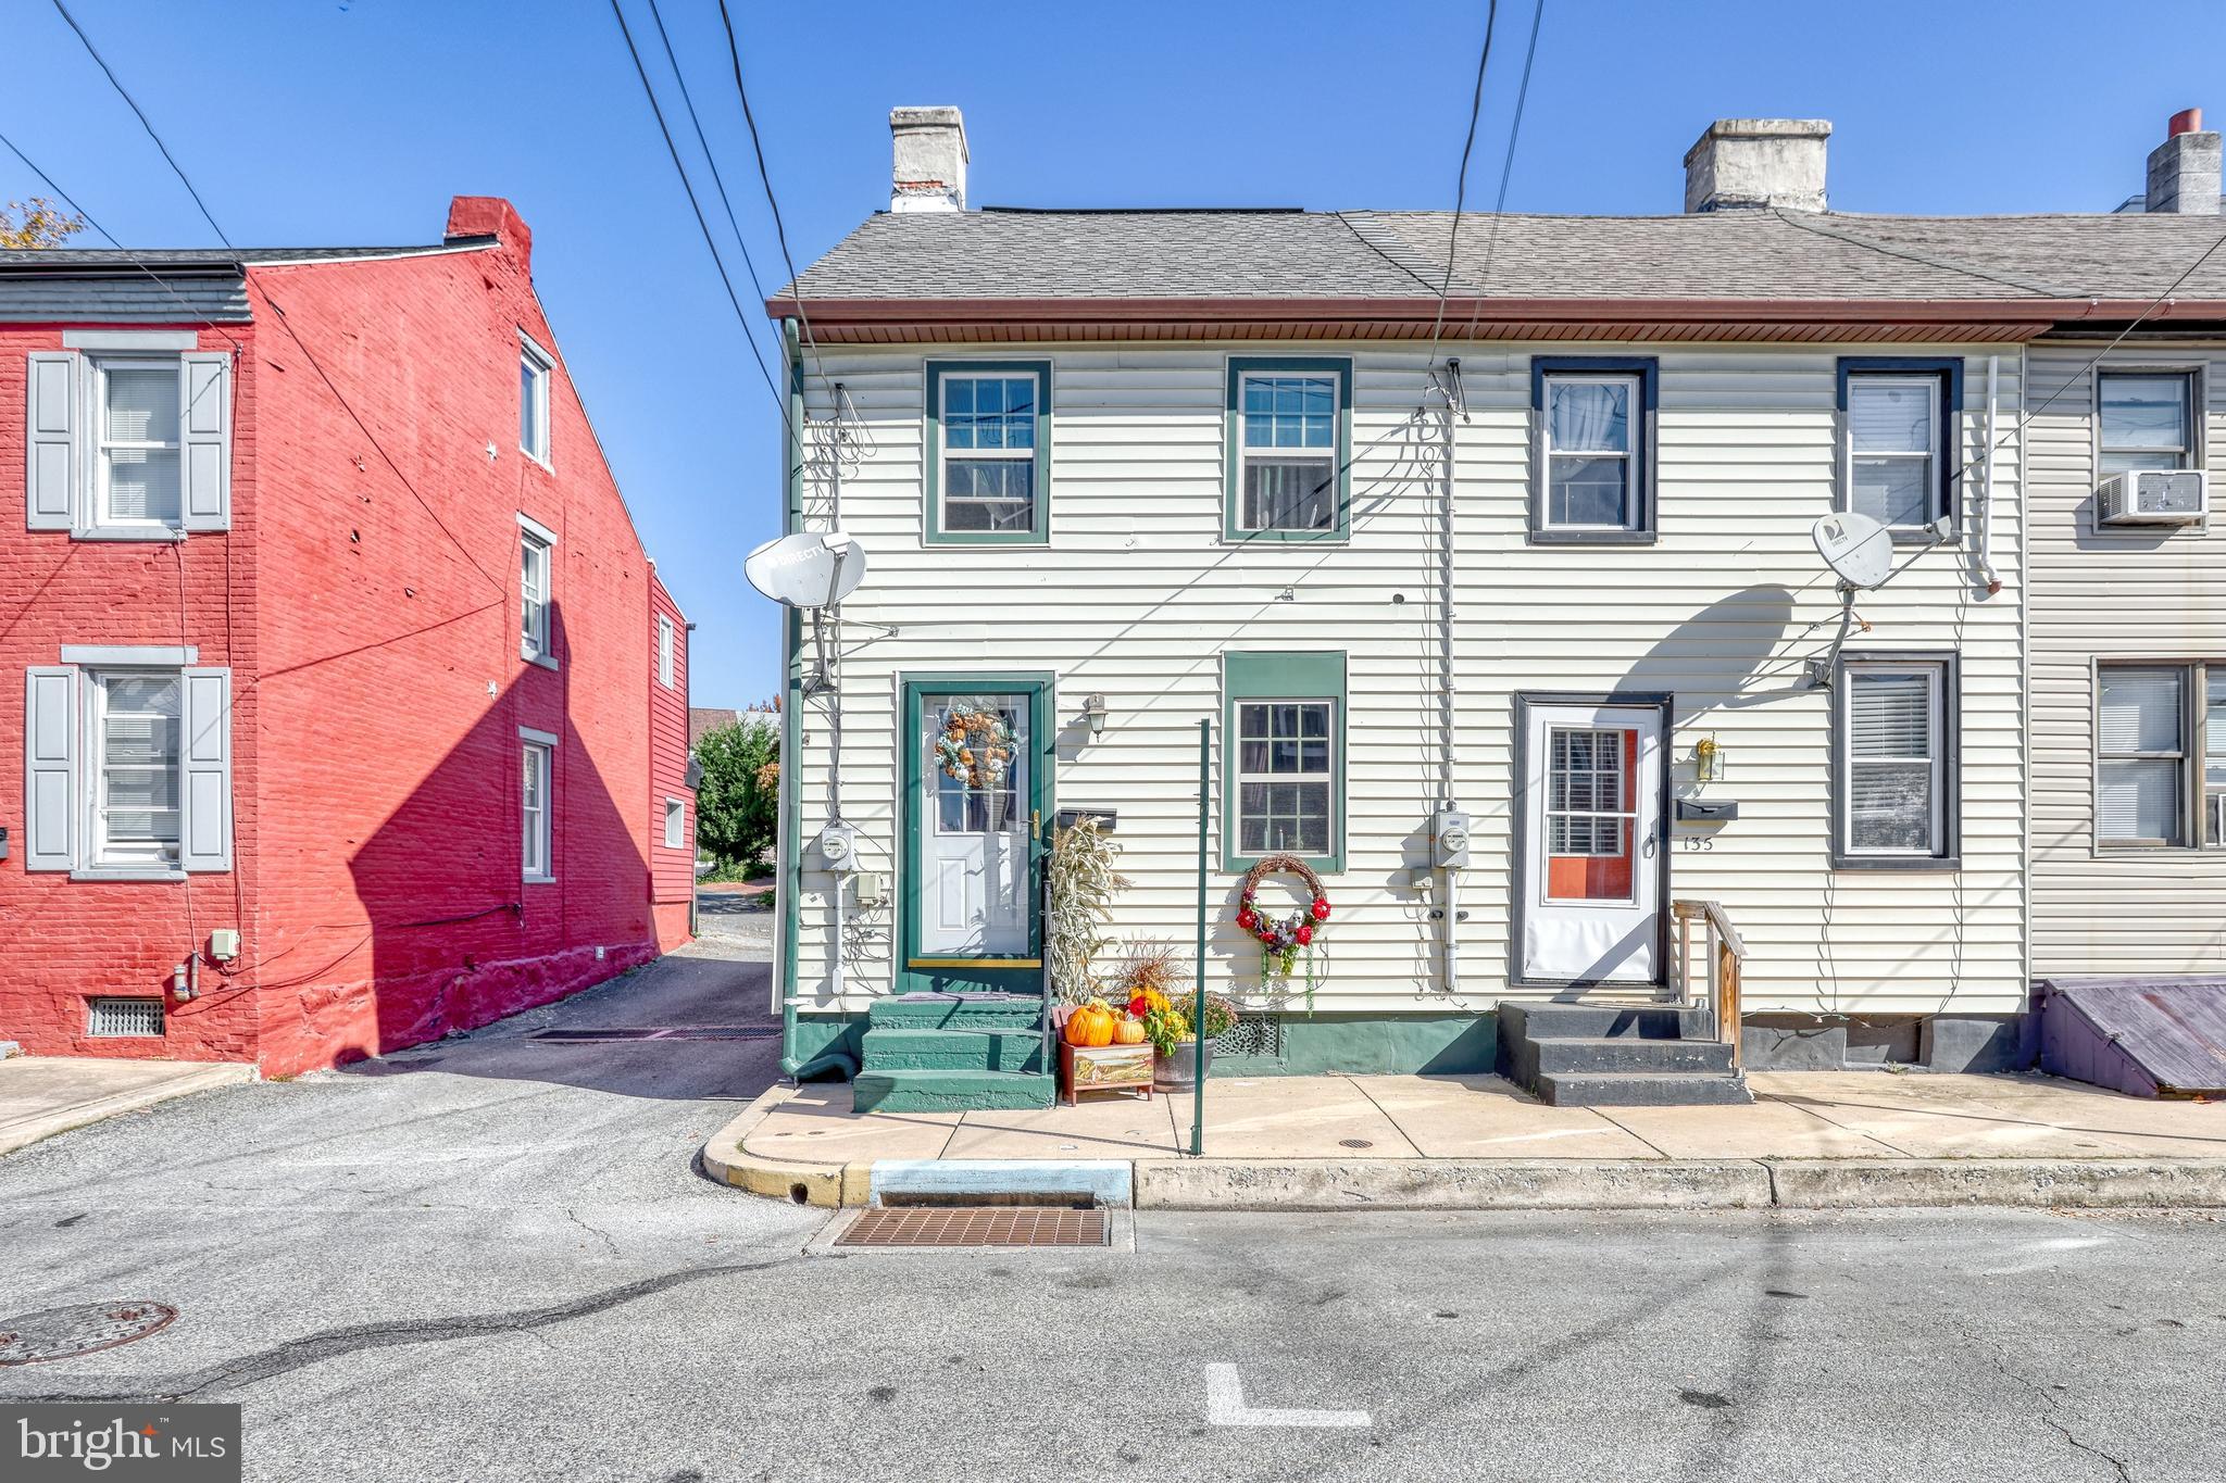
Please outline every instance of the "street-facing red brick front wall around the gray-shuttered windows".
[[[171, 969], [216, 927], [245, 927], [256, 880], [256, 820], [238, 800], [256, 785], [256, 331], [203, 329], [198, 349], [234, 349], [232, 529], [183, 543], [71, 540], [24, 529], [24, 382], [31, 351], [62, 349], [65, 325], [0, 325], [0, 1041], [31, 1054], [249, 1061], [256, 1001], [203, 972], [203, 996], [171, 1003], [162, 1041], [85, 1036], [87, 998], [167, 994]], [[102, 325], [102, 329], [167, 329]], [[27, 872], [22, 805], [22, 671], [58, 665], [62, 645], [194, 645], [232, 667], [234, 869], [185, 880], [89, 883]], [[243, 956], [247, 949], [243, 947]]]

